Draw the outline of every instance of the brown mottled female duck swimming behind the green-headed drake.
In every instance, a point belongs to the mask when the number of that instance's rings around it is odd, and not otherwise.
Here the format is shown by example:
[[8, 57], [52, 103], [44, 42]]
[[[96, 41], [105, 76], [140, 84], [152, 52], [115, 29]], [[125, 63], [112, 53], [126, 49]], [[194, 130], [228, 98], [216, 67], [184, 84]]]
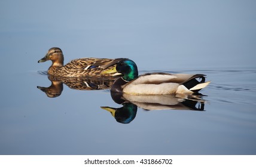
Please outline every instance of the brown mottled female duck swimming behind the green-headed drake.
[[51, 60], [52, 64], [48, 69], [48, 74], [62, 77], [81, 76], [117, 76], [120, 73], [102, 73], [112, 69], [120, 60], [126, 58], [78, 58], [63, 66], [64, 57], [60, 48], [50, 48], [44, 58], [38, 63]]

